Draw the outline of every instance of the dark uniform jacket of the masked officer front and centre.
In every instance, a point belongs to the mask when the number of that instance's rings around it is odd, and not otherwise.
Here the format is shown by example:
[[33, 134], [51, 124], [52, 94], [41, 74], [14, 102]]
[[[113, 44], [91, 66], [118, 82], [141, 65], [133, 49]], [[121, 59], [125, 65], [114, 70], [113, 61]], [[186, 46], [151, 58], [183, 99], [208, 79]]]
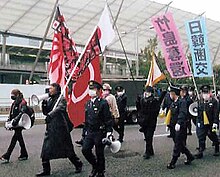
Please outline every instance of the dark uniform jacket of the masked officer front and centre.
[[106, 100], [96, 98], [94, 102], [89, 100], [86, 103], [84, 125], [85, 132], [112, 132], [112, 125], [112, 116]]

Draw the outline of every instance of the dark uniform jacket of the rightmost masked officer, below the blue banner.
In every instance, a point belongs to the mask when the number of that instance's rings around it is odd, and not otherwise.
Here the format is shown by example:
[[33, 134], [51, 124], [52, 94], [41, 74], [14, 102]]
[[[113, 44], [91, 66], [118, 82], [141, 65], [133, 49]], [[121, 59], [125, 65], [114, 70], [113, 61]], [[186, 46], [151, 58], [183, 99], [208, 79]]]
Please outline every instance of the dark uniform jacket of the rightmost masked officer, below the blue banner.
[[211, 100], [204, 102], [203, 99], [201, 99], [198, 102], [198, 118], [197, 123], [204, 124], [203, 121], [203, 111], [206, 111], [209, 125], [212, 126], [213, 123], [219, 124], [219, 103], [215, 98], [211, 98]]

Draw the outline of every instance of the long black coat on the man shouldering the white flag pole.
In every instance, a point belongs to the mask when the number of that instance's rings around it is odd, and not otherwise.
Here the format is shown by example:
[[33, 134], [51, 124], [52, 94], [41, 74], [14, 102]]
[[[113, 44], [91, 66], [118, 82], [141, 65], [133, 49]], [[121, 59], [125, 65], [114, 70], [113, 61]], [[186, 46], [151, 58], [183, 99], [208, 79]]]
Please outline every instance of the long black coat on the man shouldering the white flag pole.
[[53, 109], [59, 95], [49, 97], [42, 103], [43, 114], [47, 116], [46, 132], [43, 142], [41, 158], [58, 159], [73, 155], [73, 144], [68, 129], [67, 103], [61, 98], [57, 107]]

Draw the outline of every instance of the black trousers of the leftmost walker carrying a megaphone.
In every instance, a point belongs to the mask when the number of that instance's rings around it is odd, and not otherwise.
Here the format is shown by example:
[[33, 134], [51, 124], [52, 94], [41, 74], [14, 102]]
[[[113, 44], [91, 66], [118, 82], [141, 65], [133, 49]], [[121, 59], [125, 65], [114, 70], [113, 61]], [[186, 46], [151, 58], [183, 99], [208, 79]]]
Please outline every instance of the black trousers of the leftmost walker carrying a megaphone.
[[20, 157], [27, 157], [28, 156], [27, 150], [26, 150], [26, 147], [25, 147], [25, 143], [24, 143], [24, 139], [23, 139], [23, 136], [22, 136], [22, 130], [23, 130], [23, 128], [16, 128], [14, 130], [14, 135], [11, 139], [11, 143], [8, 147], [8, 150], [3, 155], [3, 157], [5, 159], [8, 159], [8, 160], [10, 159], [11, 153], [14, 150], [14, 147], [15, 147], [17, 141], [19, 142], [20, 147], [21, 147]]

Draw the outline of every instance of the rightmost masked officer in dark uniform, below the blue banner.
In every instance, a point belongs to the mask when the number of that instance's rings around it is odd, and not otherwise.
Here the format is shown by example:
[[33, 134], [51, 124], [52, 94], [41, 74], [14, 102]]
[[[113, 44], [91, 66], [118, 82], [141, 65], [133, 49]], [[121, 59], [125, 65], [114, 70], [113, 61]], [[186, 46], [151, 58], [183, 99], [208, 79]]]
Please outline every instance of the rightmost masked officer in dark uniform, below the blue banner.
[[196, 134], [199, 140], [198, 153], [196, 158], [203, 158], [205, 150], [206, 136], [213, 142], [215, 146], [214, 156], [219, 156], [219, 142], [216, 134], [219, 128], [219, 103], [211, 96], [211, 88], [209, 85], [201, 87], [201, 98], [198, 101], [198, 116], [196, 119]]

